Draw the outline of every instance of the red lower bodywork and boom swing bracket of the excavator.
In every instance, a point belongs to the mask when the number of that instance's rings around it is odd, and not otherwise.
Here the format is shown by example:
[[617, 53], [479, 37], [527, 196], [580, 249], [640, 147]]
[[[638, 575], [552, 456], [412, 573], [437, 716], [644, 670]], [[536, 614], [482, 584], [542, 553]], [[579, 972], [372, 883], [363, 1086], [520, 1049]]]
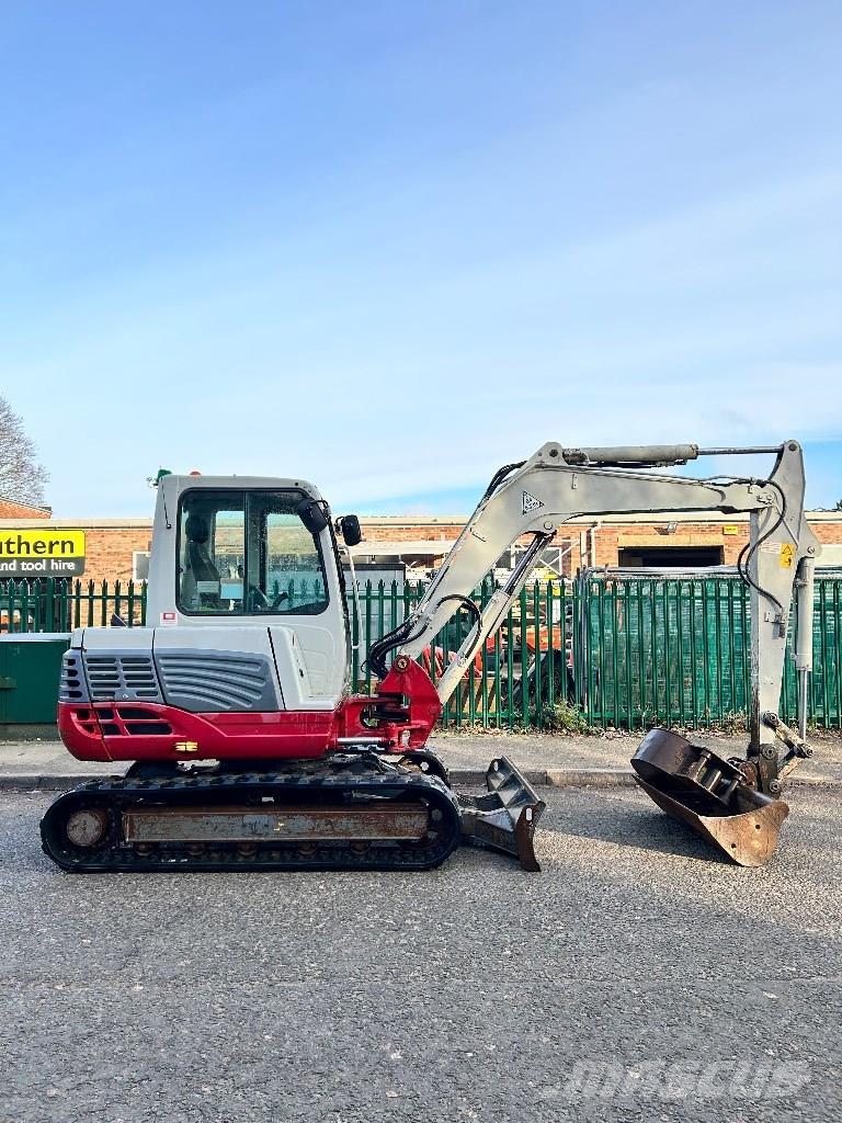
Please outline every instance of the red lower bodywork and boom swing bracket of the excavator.
[[60, 702], [58, 731], [79, 760], [277, 760], [321, 757], [340, 748], [340, 737], [421, 748], [440, 713], [429, 676], [396, 660], [377, 694], [336, 710], [189, 713], [149, 702]]

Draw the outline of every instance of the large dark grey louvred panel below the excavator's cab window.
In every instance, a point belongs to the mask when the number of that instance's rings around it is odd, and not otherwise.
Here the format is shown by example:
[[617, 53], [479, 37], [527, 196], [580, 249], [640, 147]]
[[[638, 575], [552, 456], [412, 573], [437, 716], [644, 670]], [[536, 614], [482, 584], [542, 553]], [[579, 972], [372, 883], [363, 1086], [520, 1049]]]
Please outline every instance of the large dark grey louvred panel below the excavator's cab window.
[[167, 649], [156, 651], [155, 660], [167, 705], [191, 713], [280, 709], [265, 655]]

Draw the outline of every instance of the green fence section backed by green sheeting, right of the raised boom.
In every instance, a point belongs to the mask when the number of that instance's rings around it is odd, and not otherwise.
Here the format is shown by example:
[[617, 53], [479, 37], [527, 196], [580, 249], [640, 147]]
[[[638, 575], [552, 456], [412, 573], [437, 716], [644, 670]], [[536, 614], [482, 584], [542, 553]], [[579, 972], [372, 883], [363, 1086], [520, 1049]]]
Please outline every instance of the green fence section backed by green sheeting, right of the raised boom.
[[[604, 575], [583, 585], [578, 701], [591, 721], [694, 727], [748, 712], [751, 609], [738, 576]], [[816, 581], [809, 713], [827, 727], [842, 724], [841, 590], [840, 577]], [[779, 710], [785, 720], [797, 713], [797, 628], [793, 613]]]

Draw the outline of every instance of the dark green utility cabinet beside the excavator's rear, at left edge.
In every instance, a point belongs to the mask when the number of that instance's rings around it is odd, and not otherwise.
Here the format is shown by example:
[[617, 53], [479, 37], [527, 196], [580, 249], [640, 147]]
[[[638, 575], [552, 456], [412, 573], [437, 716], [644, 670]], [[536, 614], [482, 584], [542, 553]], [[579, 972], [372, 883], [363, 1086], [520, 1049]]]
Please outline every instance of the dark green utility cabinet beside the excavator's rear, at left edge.
[[0, 727], [55, 724], [58, 675], [68, 647], [68, 632], [0, 636]]

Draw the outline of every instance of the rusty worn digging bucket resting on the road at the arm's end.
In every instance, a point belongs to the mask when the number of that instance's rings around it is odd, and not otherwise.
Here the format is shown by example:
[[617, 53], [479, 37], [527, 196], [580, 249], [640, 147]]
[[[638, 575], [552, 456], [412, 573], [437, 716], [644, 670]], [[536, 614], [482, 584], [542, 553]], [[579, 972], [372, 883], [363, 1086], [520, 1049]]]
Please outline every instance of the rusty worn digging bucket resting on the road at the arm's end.
[[672, 819], [687, 823], [739, 866], [765, 866], [789, 806], [756, 792], [712, 749], [653, 729], [632, 757], [638, 784]]

